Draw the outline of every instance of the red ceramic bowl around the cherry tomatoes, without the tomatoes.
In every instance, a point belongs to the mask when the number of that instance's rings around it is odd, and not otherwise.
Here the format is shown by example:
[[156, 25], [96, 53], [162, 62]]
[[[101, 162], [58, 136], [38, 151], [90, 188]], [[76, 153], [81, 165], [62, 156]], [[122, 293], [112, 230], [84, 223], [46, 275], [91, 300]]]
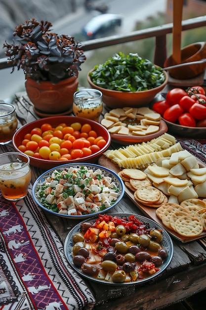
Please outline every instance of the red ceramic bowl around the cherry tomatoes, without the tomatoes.
[[108, 130], [102, 126], [101, 124], [87, 119], [87, 118], [82, 118], [82, 117], [76, 117], [76, 116], [52, 116], [52, 117], [46, 117], [46, 118], [41, 118], [38, 120], [35, 120], [31, 123], [25, 124], [22, 126], [20, 129], [18, 129], [12, 139], [12, 144], [14, 149], [17, 152], [22, 153], [19, 151], [18, 147], [21, 145], [22, 140], [24, 139], [24, 136], [28, 133], [31, 132], [31, 130], [35, 127], [41, 127], [43, 123], [49, 123], [53, 127], [61, 124], [61, 123], [66, 123], [68, 126], [70, 126], [74, 122], [79, 122], [82, 125], [83, 124], [90, 124], [92, 129], [96, 131], [98, 136], [102, 136], [106, 141], [106, 145], [97, 153], [82, 157], [81, 159], [72, 159], [72, 160], [48, 160], [48, 159], [39, 159], [35, 158], [33, 156], [30, 157], [30, 163], [33, 166], [42, 168], [44, 170], [62, 165], [62, 164], [67, 164], [67, 163], [78, 163], [78, 162], [89, 162], [89, 163], [95, 163], [97, 159], [100, 157], [100, 155], [107, 150], [111, 143], [111, 136], [108, 132]]

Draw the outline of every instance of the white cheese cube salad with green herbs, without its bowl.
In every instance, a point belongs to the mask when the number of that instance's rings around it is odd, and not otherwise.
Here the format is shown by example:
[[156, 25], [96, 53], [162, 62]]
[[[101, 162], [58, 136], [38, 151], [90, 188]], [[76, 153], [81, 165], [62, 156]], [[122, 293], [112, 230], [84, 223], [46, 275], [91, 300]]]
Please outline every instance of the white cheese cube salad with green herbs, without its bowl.
[[111, 207], [120, 189], [101, 169], [86, 166], [54, 170], [37, 186], [35, 195], [41, 205], [65, 215], [96, 213]]

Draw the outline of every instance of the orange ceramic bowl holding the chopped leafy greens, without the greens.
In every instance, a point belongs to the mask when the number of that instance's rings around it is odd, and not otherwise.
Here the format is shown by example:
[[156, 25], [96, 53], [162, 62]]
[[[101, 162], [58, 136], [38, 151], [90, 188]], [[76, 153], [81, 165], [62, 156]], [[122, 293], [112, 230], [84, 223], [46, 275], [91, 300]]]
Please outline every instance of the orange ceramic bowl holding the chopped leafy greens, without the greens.
[[102, 92], [102, 100], [107, 106], [111, 108], [117, 107], [139, 107], [145, 106], [150, 103], [155, 96], [161, 92], [168, 82], [168, 74], [166, 71], [163, 71], [165, 74], [165, 82], [158, 87], [152, 88], [147, 91], [140, 91], [140, 92], [121, 92], [121, 91], [113, 91], [106, 88], [99, 87], [92, 83], [89, 73], [92, 72], [90, 70], [87, 74], [87, 81], [91, 88], [98, 89]]

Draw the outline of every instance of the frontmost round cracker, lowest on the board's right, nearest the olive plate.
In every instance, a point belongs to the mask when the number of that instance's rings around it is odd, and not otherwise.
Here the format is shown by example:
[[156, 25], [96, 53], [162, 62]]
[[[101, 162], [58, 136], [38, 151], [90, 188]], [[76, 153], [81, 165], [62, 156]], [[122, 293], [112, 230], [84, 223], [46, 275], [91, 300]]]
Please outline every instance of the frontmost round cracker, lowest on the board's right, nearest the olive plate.
[[194, 216], [181, 216], [175, 221], [175, 231], [183, 237], [196, 237], [203, 232], [203, 224]]

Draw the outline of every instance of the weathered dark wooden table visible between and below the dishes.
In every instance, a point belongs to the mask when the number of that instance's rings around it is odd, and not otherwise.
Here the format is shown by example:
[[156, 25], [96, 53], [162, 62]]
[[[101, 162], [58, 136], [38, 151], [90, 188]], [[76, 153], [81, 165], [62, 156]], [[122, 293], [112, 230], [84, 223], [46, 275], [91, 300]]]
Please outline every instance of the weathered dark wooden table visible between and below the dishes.
[[[16, 106], [19, 126], [38, 119], [32, 103], [26, 93], [18, 93], [13, 102]], [[12, 145], [7, 147], [12, 151]], [[0, 147], [0, 153], [5, 152]], [[44, 171], [32, 166], [32, 182]], [[108, 213], [142, 214], [139, 208], [126, 196]], [[48, 215], [48, 214], [45, 214]], [[48, 221], [64, 243], [65, 238], [78, 220], [52, 216]], [[96, 298], [95, 309], [98, 310], [132, 310], [160, 309], [166, 305], [181, 301], [206, 288], [206, 240], [199, 239], [189, 243], [182, 243], [172, 238], [174, 256], [168, 268], [155, 280], [142, 285], [110, 286], [87, 281], [88, 286]]]

